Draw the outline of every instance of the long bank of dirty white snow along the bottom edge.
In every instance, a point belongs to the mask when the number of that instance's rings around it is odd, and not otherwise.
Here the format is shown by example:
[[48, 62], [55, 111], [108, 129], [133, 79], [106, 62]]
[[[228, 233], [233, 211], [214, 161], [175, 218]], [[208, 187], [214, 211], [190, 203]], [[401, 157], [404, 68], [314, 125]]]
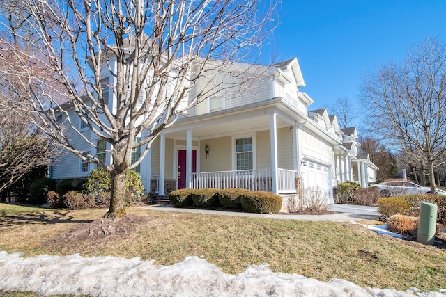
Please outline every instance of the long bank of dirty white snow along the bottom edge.
[[359, 287], [333, 279], [272, 273], [268, 264], [230, 275], [205, 259], [186, 257], [172, 266], [118, 257], [65, 257], [0, 252], [0, 291], [91, 296], [446, 296]]

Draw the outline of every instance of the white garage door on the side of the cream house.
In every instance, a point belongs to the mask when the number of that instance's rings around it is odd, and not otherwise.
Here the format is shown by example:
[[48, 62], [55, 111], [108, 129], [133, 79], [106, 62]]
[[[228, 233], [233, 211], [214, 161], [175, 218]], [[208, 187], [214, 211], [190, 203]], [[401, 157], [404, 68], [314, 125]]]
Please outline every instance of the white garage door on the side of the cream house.
[[301, 168], [303, 189], [318, 186], [326, 194], [327, 202], [331, 190], [329, 169], [328, 166], [305, 160]]

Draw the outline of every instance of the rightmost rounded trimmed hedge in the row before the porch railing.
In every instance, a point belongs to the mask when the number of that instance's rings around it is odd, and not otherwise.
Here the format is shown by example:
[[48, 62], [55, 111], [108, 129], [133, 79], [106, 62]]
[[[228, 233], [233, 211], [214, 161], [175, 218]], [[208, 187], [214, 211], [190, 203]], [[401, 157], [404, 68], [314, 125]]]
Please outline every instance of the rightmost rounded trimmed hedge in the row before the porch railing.
[[241, 202], [243, 211], [257, 214], [277, 214], [282, 207], [282, 197], [270, 192], [247, 191]]

